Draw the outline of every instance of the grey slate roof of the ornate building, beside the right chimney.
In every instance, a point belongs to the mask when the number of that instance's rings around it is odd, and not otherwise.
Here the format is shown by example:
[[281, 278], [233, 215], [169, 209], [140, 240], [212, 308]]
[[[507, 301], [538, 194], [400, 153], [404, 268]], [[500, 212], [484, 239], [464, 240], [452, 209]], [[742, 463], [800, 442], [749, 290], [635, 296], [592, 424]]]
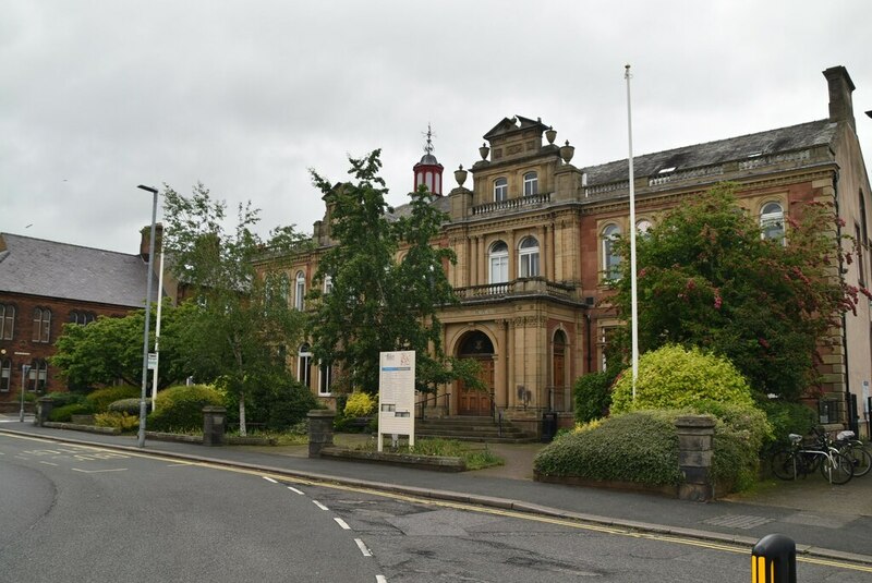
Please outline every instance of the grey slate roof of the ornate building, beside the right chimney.
[[[756, 134], [748, 134], [705, 144], [646, 154], [633, 157], [633, 174], [652, 177], [661, 170], [718, 165], [730, 160], [743, 160], [751, 156], [766, 156], [780, 151], [791, 151], [821, 146], [833, 142], [837, 123], [819, 120]], [[627, 180], [628, 162], [617, 160], [582, 169], [588, 174], [588, 184], [607, 184]]]

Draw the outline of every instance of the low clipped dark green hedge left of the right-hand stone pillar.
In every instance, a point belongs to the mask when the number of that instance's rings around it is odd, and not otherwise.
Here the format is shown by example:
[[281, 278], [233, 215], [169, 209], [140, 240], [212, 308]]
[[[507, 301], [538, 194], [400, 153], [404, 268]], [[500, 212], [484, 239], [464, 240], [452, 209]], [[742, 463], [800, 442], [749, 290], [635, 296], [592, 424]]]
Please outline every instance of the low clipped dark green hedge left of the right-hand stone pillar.
[[554, 476], [678, 484], [675, 412], [643, 411], [603, 420], [594, 428], [567, 434], [543, 449], [536, 472]]

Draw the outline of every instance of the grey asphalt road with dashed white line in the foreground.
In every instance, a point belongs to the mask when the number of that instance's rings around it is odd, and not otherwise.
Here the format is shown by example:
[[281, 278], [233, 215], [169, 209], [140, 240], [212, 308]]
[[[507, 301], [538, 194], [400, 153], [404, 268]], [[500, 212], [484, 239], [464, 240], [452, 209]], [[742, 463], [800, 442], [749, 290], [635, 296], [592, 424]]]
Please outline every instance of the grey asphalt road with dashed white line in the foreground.
[[747, 549], [10, 435], [0, 524], [15, 583], [750, 580]]

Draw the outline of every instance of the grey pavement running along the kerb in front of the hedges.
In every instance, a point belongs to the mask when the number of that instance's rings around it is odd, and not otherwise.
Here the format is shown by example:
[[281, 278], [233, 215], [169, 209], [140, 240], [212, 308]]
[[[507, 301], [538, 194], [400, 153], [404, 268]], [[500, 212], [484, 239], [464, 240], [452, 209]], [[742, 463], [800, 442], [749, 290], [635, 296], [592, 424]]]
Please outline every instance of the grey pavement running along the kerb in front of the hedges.
[[[764, 482], [752, 493], [701, 503], [652, 494], [534, 482], [533, 459], [544, 447], [540, 444], [488, 444], [486, 447], [500, 456], [505, 465], [443, 473], [310, 459], [307, 446], [210, 448], [146, 439], [145, 447], [140, 449], [135, 437], [36, 427], [31, 420], [20, 423], [17, 416], [0, 414], [2, 433], [512, 509], [621, 530], [729, 543], [747, 546], [749, 554], [760, 538], [779, 533], [797, 543], [799, 556], [872, 566], [872, 474], [853, 478], [844, 486], [831, 486], [821, 475], [796, 482]], [[336, 442], [344, 445], [353, 439], [338, 435]]]

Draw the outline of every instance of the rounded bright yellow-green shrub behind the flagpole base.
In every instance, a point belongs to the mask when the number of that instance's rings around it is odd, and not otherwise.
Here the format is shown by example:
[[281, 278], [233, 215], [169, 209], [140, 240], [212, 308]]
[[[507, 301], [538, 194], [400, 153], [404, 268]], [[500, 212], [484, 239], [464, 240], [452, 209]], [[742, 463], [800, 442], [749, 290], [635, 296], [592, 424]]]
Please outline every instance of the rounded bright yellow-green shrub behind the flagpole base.
[[748, 381], [729, 361], [668, 344], [639, 359], [635, 400], [629, 369], [618, 377], [611, 412], [685, 409], [704, 400], [753, 405]]

